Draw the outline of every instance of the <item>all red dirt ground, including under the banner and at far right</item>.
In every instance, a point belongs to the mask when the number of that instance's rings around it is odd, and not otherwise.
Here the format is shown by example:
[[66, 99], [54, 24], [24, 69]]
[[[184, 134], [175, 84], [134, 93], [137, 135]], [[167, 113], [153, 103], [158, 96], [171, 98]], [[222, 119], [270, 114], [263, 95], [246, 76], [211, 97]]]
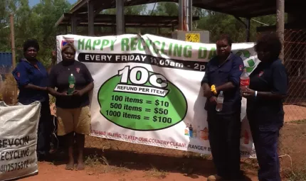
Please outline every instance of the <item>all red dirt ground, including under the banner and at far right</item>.
[[[285, 126], [281, 131], [280, 158], [283, 180], [306, 180], [305, 177], [292, 179], [295, 174], [305, 173], [306, 168], [306, 108], [286, 105]], [[38, 163], [38, 175], [22, 181], [81, 181], [81, 180], [206, 180], [215, 173], [211, 158], [206, 155], [134, 145], [88, 136], [86, 138], [86, 170], [65, 170], [63, 161]], [[288, 156], [289, 155], [289, 156]], [[290, 160], [291, 158], [291, 160]], [[56, 160], [63, 160], [57, 158]], [[258, 180], [256, 160], [246, 159], [242, 168], [248, 180]], [[305, 178], [305, 179], [304, 179]]]

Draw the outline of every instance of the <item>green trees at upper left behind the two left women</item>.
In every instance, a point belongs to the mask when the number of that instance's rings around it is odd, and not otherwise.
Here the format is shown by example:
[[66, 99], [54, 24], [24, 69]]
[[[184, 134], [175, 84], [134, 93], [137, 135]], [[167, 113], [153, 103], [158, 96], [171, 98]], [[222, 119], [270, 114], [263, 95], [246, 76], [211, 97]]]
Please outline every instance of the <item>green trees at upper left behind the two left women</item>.
[[[41, 47], [38, 60], [48, 67], [51, 64], [51, 52], [56, 45], [54, 27], [58, 18], [69, 11], [70, 4], [66, 0], [41, 0], [36, 6], [30, 7], [28, 0], [4, 0], [0, 4], [0, 51], [10, 51], [9, 14], [14, 14], [16, 59], [23, 56], [23, 43], [28, 38], [35, 38]], [[59, 30], [60, 31], [60, 30]], [[4, 37], [4, 38], [2, 38]]]

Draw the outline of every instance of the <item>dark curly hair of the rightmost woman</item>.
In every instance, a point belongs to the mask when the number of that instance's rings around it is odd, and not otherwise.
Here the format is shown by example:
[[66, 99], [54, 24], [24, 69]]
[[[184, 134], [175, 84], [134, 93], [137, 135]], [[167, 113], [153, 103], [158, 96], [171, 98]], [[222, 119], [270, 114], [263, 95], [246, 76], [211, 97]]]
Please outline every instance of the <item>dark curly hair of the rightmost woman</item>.
[[282, 51], [282, 43], [276, 33], [266, 33], [260, 37], [255, 45], [255, 51], [270, 53], [272, 59], [278, 59]]

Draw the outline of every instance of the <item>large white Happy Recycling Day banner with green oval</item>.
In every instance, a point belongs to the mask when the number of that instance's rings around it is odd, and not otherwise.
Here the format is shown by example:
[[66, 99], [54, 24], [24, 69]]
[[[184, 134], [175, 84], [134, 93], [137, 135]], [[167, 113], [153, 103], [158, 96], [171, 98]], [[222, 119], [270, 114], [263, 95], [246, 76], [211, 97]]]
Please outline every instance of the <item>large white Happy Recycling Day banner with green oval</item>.
[[[66, 43], [77, 50], [95, 80], [91, 135], [130, 143], [210, 154], [201, 90], [215, 44], [189, 43], [155, 35], [88, 37], [58, 35], [57, 55]], [[254, 43], [233, 44], [248, 72], [258, 64]], [[242, 102], [241, 155], [253, 154]]]

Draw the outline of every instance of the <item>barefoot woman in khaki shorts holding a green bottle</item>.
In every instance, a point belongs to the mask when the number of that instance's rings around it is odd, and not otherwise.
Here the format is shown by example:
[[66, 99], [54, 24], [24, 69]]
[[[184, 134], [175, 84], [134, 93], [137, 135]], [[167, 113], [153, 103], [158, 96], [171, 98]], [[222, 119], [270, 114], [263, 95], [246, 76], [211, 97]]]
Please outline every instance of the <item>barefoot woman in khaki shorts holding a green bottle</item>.
[[[68, 146], [67, 170], [74, 170], [73, 143], [78, 145], [77, 170], [84, 169], [83, 148], [85, 135], [90, 133], [90, 108], [88, 92], [93, 89], [93, 77], [88, 68], [75, 61], [75, 48], [66, 44], [62, 48], [63, 61], [55, 65], [49, 75], [50, 94], [56, 97], [56, 115], [58, 117], [58, 136], [65, 136]], [[75, 91], [68, 95], [68, 77], [75, 77]], [[57, 91], [55, 90], [57, 87]], [[75, 134], [75, 137], [74, 137]]]

